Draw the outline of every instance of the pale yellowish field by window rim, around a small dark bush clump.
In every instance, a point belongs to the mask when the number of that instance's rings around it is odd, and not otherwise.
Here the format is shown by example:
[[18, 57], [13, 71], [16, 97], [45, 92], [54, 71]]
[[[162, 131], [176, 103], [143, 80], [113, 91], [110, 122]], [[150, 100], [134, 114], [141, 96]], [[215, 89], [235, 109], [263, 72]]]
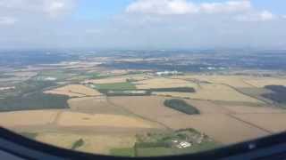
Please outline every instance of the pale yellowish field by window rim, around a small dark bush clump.
[[36, 140], [51, 144], [60, 148], [71, 148], [77, 140], [83, 140], [84, 144], [77, 150], [97, 154], [109, 154], [112, 148], [131, 148], [136, 138], [131, 135], [80, 135], [71, 133], [46, 132], [40, 133]]

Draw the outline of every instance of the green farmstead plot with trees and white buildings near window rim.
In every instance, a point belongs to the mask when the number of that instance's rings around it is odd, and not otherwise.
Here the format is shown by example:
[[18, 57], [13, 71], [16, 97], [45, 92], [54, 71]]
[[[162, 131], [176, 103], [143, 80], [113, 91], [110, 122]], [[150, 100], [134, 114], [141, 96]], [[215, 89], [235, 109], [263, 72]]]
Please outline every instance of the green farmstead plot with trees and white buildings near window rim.
[[[181, 142], [189, 142], [191, 146], [179, 148]], [[134, 150], [135, 156], [170, 156], [198, 153], [219, 146], [220, 144], [194, 129], [184, 129], [137, 135]]]

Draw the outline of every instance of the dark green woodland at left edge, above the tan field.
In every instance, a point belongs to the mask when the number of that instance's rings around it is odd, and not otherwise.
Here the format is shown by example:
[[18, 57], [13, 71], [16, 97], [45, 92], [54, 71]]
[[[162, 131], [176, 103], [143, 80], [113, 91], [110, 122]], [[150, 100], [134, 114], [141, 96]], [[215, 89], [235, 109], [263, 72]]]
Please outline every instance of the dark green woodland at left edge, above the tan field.
[[55, 82], [28, 80], [15, 85], [11, 92], [5, 92], [0, 99], [0, 112], [31, 110], [31, 109], [50, 109], [50, 108], [69, 108], [68, 96], [45, 94], [46, 88], [55, 87]]

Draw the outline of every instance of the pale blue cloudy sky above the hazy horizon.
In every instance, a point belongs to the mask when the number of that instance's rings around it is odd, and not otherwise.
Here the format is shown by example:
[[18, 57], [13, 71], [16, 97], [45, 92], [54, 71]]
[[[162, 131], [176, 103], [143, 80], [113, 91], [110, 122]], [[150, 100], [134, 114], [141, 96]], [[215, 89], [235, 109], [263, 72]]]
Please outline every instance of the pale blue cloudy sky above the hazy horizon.
[[0, 0], [0, 49], [286, 49], [285, 0]]

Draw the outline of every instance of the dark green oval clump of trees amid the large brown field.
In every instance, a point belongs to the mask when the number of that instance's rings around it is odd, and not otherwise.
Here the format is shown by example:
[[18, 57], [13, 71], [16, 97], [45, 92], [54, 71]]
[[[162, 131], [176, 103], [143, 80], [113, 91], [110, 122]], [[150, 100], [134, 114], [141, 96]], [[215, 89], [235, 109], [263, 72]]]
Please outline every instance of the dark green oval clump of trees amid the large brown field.
[[197, 108], [189, 105], [184, 100], [178, 100], [178, 99], [165, 100], [164, 106], [168, 108], [173, 108], [187, 115], [199, 115], [200, 114]]

